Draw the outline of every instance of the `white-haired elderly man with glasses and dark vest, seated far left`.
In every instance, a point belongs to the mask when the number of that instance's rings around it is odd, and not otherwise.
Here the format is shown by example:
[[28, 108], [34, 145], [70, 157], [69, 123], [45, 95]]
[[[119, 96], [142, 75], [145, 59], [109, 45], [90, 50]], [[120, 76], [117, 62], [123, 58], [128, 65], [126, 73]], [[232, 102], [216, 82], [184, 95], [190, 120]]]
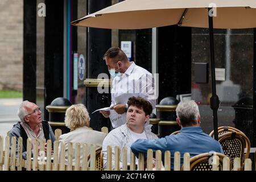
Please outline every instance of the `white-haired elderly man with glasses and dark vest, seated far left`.
[[[9, 132], [10, 151], [11, 137], [16, 137], [16, 154], [18, 154], [18, 138], [23, 139], [22, 158], [27, 159], [27, 138], [48, 139], [55, 141], [52, 128], [48, 122], [42, 121], [42, 111], [33, 102], [23, 101], [17, 112], [20, 121], [13, 126]], [[53, 146], [53, 145], [52, 145]], [[45, 148], [46, 150], [46, 148]]]

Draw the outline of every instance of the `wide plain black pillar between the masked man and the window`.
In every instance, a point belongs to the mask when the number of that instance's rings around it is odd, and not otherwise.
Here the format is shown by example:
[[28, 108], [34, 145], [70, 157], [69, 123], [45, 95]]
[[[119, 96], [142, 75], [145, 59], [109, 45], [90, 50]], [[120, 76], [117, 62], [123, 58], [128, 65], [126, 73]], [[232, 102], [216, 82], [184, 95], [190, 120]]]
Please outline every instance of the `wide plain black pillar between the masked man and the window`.
[[191, 28], [158, 28], [159, 97], [191, 93]]

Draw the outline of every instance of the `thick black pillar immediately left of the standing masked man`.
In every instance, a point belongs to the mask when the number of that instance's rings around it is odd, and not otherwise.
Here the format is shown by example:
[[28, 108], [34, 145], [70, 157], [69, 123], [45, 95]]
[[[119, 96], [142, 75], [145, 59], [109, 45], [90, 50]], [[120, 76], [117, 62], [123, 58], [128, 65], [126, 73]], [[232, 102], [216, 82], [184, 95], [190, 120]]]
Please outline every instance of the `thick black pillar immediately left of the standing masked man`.
[[[88, 1], [88, 13], [94, 13], [105, 7], [111, 6], [112, 1]], [[100, 73], [108, 73], [105, 61], [102, 60], [104, 53], [111, 47], [111, 30], [89, 28], [88, 30], [88, 77], [97, 79]], [[89, 113], [101, 107], [110, 106], [110, 94], [100, 94], [97, 86], [87, 86], [87, 109]], [[90, 114], [90, 127], [101, 130], [101, 127], [109, 127], [109, 119], [102, 117], [100, 113]]]

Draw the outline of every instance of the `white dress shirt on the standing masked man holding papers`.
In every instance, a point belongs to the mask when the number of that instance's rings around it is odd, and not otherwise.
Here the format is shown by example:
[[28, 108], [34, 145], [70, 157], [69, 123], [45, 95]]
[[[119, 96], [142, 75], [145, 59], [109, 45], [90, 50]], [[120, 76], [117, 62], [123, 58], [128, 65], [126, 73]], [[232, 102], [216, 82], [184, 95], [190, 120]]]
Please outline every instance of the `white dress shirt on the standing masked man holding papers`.
[[[125, 73], [113, 79], [111, 96], [110, 107], [127, 104], [128, 99], [134, 96], [148, 100], [154, 109], [156, 105], [154, 78], [146, 69], [132, 62]], [[117, 114], [114, 110], [110, 110], [109, 118], [114, 128], [126, 123], [126, 113]]]

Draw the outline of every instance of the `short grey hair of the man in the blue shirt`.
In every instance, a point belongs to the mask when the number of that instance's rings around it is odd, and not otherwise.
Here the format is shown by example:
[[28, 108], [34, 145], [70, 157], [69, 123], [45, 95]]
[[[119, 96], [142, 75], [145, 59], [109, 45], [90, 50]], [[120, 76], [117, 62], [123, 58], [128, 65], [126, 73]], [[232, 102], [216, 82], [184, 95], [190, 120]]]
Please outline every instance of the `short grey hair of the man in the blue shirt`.
[[182, 126], [191, 126], [197, 123], [199, 108], [195, 101], [181, 101], [176, 107], [177, 118]]

